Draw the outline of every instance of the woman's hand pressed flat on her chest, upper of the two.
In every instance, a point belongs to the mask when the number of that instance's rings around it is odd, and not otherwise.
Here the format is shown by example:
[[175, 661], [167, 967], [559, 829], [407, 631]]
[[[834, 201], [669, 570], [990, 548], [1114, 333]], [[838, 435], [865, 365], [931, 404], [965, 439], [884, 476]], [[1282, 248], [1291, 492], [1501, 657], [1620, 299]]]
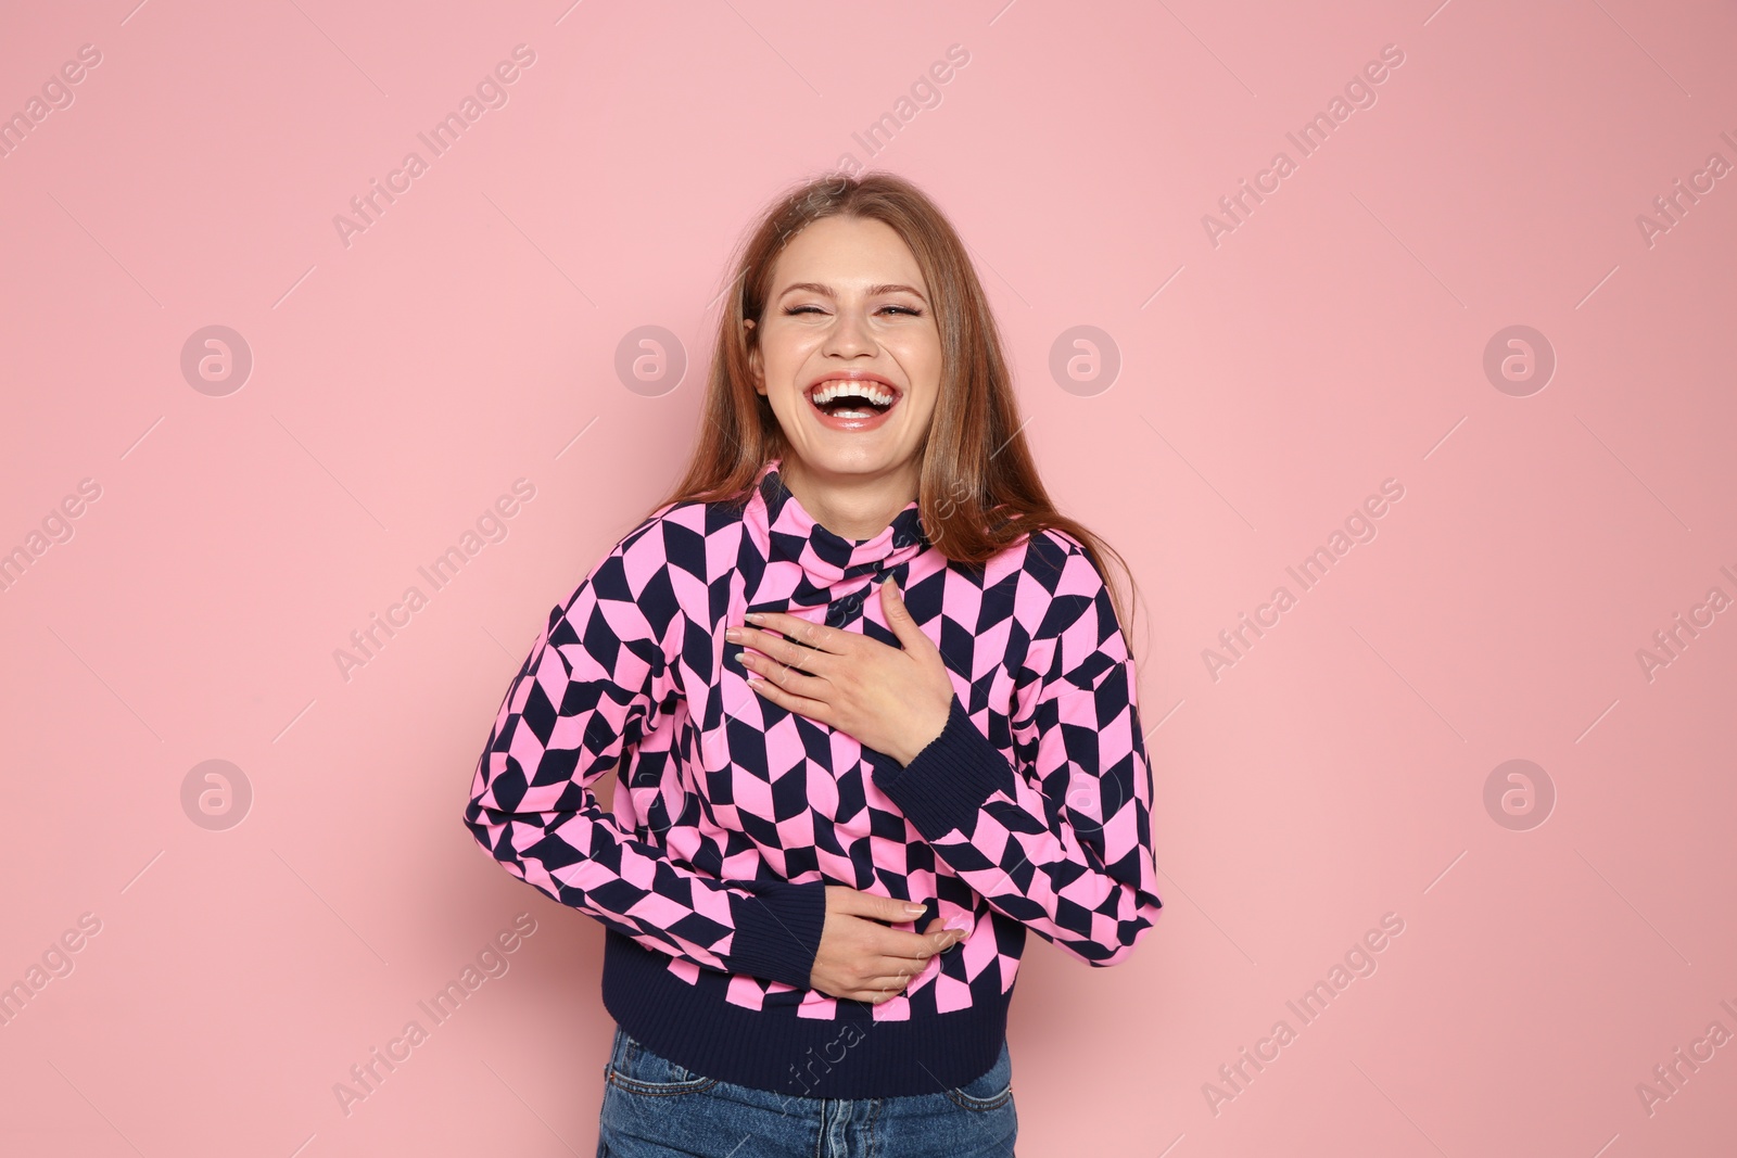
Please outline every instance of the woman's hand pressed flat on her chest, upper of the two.
[[905, 766], [947, 727], [954, 684], [891, 578], [881, 583], [881, 609], [903, 648], [783, 611], [750, 616], [782, 639], [754, 627], [731, 627], [724, 639], [752, 649], [740, 656], [759, 677], [749, 688]]

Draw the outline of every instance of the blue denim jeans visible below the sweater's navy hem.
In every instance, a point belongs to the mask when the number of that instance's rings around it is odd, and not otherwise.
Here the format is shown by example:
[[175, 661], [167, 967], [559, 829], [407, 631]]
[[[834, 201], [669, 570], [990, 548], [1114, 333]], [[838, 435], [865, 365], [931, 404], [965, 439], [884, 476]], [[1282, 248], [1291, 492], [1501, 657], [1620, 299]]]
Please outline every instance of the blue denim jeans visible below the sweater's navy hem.
[[598, 1158], [1014, 1158], [1013, 1059], [940, 1094], [785, 1097], [697, 1075], [615, 1026]]

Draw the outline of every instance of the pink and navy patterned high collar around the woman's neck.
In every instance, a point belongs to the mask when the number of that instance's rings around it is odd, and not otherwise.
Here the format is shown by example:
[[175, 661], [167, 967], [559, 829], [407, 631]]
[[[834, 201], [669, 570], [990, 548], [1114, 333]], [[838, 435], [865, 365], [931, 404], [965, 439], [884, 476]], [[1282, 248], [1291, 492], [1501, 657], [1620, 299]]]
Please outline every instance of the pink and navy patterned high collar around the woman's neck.
[[907, 564], [929, 547], [915, 498], [874, 538], [844, 538], [802, 509], [783, 484], [778, 465], [780, 460], [771, 458], [761, 467], [742, 512], [749, 543], [764, 561], [754, 568], [756, 575], [747, 575], [749, 609], [832, 604], [827, 623], [837, 627], [853, 618], [886, 575], [903, 589]]

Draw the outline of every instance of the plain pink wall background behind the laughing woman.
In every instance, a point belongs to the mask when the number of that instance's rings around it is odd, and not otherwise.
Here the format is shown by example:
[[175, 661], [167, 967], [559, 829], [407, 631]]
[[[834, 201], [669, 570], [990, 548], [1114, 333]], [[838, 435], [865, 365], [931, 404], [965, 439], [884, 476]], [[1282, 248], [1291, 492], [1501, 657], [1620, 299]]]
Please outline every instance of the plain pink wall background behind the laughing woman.
[[[101, 931], [0, 1028], [0, 1151], [592, 1151], [603, 931], [460, 811], [549, 609], [684, 460], [738, 233], [846, 153], [954, 217], [1046, 481], [1143, 594], [1166, 911], [1115, 969], [1032, 939], [1020, 1153], [1730, 1146], [1737, 1043], [1636, 1092], [1737, 1033], [1737, 611], [1636, 656], [1737, 597], [1737, 177], [1636, 224], [1737, 163], [1730, 5], [10, 7], [0, 113], [101, 64], [0, 158], [0, 549], [101, 497], [0, 592], [0, 983]], [[334, 215], [519, 43], [507, 104], [346, 247]], [[870, 156], [853, 134], [955, 43]], [[1285, 132], [1383, 45], [1376, 102], [1303, 158]], [[254, 358], [222, 396], [181, 370], [212, 325]], [[667, 392], [615, 370], [646, 325], [686, 349]], [[1108, 389], [1049, 370], [1080, 325]], [[1515, 325], [1556, 356], [1523, 398], [1483, 370]], [[521, 477], [507, 536], [346, 681], [349, 632]], [[1384, 479], [1377, 536], [1301, 590]], [[212, 759], [252, 788], [226, 830], [182, 806]], [[1485, 806], [1513, 759], [1542, 825]], [[523, 911], [511, 970], [346, 1115], [334, 1083]], [[1376, 972], [1303, 1024], [1285, 1002], [1384, 913]]]

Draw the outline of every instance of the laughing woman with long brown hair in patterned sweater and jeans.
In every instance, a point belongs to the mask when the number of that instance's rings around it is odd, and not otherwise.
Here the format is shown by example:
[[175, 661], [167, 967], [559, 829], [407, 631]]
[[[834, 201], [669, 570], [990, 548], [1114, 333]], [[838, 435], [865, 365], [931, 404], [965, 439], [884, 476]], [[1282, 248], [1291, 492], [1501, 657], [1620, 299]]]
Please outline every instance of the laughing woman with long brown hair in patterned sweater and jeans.
[[703, 417], [549, 615], [466, 809], [606, 929], [598, 1153], [1011, 1155], [1027, 931], [1113, 965], [1160, 906], [1108, 547], [900, 177], [768, 208]]

